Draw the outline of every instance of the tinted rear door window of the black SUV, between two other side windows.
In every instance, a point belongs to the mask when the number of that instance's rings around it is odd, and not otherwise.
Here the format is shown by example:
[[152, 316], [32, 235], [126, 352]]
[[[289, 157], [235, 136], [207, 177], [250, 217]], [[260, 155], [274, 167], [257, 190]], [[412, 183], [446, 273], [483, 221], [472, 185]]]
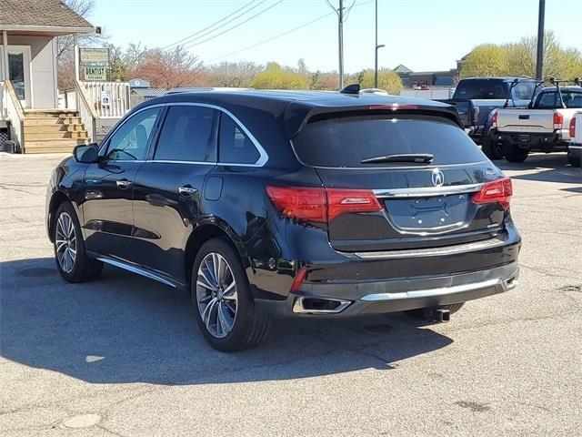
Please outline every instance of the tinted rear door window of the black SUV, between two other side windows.
[[218, 113], [211, 107], [170, 107], [154, 159], [216, 162]]

